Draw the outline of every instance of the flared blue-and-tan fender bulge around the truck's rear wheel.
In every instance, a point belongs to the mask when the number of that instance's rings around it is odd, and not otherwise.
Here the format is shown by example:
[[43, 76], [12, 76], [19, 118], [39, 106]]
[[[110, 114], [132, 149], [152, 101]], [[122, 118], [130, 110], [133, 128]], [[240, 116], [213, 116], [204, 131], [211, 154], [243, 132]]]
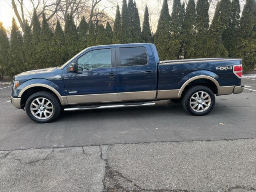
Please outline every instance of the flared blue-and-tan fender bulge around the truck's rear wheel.
[[189, 74], [187, 74], [186, 76], [184, 76], [181, 80], [180, 80], [180, 90], [178, 92], [178, 98], [181, 97], [181, 94], [184, 90], [184, 88], [192, 81], [196, 80], [196, 79], [208, 79], [211, 80], [212, 82], [214, 82], [214, 84], [216, 85], [216, 88], [218, 90], [218, 94], [220, 93], [220, 84], [218, 83], [218, 81], [216, 79], [218, 79], [218, 75], [215, 74], [214, 72], [211, 71], [207, 71], [207, 70], [198, 70], [198, 71], [193, 71], [190, 72]]

